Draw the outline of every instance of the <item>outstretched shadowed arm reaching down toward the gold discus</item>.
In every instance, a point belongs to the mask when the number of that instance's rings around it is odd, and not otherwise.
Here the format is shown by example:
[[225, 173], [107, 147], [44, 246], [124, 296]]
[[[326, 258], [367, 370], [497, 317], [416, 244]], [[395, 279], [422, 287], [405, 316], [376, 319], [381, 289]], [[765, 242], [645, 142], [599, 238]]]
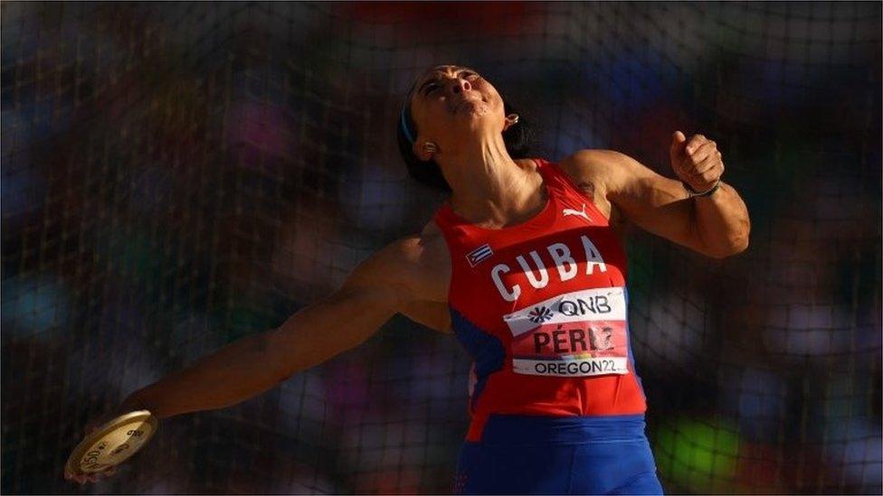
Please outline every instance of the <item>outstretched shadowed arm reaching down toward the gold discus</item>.
[[366, 342], [397, 312], [421, 304], [420, 246], [402, 239], [378, 251], [316, 304], [279, 328], [253, 334], [130, 395], [121, 409], [145, 408], [164, 418], [230, 407], [299, 370]]

